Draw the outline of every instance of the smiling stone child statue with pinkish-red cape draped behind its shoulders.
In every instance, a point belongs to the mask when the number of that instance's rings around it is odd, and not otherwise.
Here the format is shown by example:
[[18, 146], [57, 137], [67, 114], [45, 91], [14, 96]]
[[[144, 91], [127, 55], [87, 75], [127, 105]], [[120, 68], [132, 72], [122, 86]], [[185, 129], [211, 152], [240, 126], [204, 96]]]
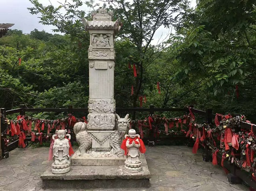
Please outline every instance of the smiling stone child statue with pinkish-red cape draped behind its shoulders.
[[[49, 159], [53, 159], [52, 172], [62, 174], [70, 171], [70, 155], [74, 153], [69, 142], [71, 135], [66, 134], [67, 130], [56, 130], [57, 134], [53, 135], [53, 142], [50, 146]], [[55, 139], [55, 137], [58, 137]], [[66, 138], [68, 137], [68, 139]], [[50, 155], [52, 152], [52, 156]]]

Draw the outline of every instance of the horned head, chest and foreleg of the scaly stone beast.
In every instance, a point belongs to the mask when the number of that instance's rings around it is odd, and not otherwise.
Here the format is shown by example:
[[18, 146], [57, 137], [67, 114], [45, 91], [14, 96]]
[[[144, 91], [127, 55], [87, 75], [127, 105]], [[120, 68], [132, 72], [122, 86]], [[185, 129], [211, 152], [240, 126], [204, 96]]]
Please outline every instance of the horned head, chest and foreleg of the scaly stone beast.
[[120, 118], [119, 115], [115, 114], [116, 122], [115, 122], [115, 133], [110, 137], [110, 146], [113, 148], [113, 153], [118, 157], [123, 156], [120, 145], [121, 141], [124, 139], [124, 135], [127, 134], [129, 129], [129, 114], [125, 116], [125, 118]]

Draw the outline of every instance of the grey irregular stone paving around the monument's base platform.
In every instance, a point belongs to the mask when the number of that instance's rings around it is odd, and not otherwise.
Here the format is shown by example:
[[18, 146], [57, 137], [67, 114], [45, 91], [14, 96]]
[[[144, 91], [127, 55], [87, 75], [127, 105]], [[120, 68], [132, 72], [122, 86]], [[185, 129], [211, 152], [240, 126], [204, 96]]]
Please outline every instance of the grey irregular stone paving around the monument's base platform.
[[[0, 160], [0, 191], [43, 191], [40, 175], [49, 168], [48, 148], [16, 148]], [[202, 160], [187, 146], [147, 147], [151, 187], [141, 189], [92, 189], [88, 191], [247, 191], [230, 185], [219, 166]], [[46, 190], [50, 191], [50, 190]], [[54, 191], [58, 191], [54, 189]], [[66, 191], [66, 190], [59, 190]], [[69, 190], [71, 191], [71, 190]], [[85, 191], [84, 189], [73, 191]]]

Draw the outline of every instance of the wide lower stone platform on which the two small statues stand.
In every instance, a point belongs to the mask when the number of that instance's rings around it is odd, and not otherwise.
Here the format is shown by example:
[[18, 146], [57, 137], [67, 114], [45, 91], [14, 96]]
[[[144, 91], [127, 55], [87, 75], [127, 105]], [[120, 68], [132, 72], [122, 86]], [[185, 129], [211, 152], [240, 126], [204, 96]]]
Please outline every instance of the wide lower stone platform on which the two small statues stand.
[[147, 161], [141, 155], [141, 172], [129, 173], [121, 166], [71, 166], [70, 172], [53, 174], [47, 169], [41, 175], [43, 189], [65, 188], [139, 188], [150, 187]]

